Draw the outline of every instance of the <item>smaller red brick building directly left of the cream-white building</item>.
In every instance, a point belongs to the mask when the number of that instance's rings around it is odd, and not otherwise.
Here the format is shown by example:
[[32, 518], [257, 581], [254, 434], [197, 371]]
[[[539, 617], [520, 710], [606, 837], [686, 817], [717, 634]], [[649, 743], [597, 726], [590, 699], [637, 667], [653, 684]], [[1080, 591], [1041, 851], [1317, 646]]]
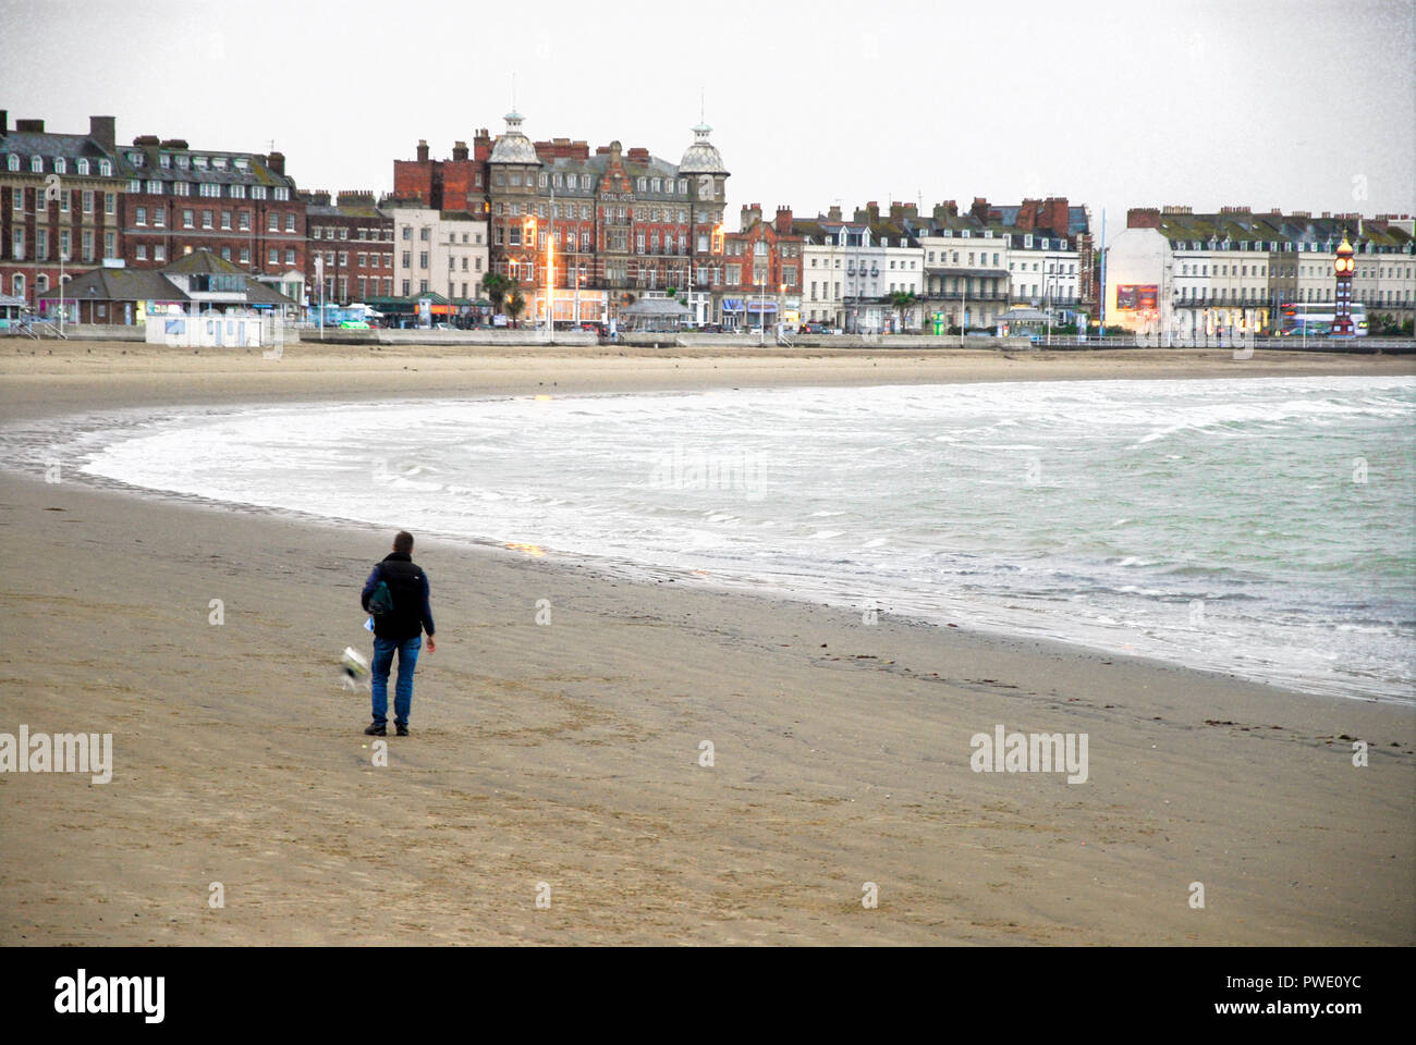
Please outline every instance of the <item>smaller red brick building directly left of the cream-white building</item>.
[[330, 202], [323, 190], [300, 193], [304, 201], [306, 286], [317, 304], [320, 285], [314, 261], [324, 259], [324, 302], [350, 304], [394, 295], [394, 219], [382, 212], [372, 191], [341, 191]]

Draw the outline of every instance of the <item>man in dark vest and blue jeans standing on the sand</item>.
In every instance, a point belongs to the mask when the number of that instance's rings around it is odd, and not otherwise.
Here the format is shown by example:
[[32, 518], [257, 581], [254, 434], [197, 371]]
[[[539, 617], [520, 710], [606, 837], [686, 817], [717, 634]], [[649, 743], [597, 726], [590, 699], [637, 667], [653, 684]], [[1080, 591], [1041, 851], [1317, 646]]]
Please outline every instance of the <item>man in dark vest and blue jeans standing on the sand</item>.
[[[370, 598], [379, 582], [388, 586], [392, 609], [374, 613], [374, 722], [364, 732], [370, 736], [388, 735], [388, 670], [398, 653], [398, 683], [394, 687], [394, 725], [399, 736], [408, 736], [408, 712], [413, 704], [413, 667], [422, 633], [428, 632], [428, 651], [436, 653], [433, 641], [433, 612], [428, 602], [428, 575], [413, 562], [413, 535], [401, 530], [394, 538], [394, 551], [374, 566], [364, 582], [360, 602], [371, 612]], [[375, 607], [377, 609], [377, 607]]]

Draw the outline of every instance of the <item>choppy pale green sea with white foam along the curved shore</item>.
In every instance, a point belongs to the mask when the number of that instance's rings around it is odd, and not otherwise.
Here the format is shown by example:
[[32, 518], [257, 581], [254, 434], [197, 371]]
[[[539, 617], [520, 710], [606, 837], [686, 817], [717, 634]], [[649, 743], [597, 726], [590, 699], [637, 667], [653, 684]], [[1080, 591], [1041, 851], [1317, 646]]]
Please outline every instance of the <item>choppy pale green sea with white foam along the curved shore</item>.
[[787, 592], [862, 626], [1413, 699], [1413, 415], [1405, 377], [722, 389], [169, 411], [69, 453], [137, 487]]

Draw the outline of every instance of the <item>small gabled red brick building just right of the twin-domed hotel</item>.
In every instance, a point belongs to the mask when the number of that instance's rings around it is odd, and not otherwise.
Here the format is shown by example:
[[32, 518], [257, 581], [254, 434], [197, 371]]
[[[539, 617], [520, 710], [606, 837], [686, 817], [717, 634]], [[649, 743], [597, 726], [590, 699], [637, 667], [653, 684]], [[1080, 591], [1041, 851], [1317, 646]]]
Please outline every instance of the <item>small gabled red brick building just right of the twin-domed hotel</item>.
[[784, 312], [800, 309], [806, 236], [793, 231], [790, 207], [777, 207], [772, 221], [762, 219], [762, 204], [743, 207], [739, 229], [724, 241], [722, 279], [714, 296], [725, 327], [770, 330]]

